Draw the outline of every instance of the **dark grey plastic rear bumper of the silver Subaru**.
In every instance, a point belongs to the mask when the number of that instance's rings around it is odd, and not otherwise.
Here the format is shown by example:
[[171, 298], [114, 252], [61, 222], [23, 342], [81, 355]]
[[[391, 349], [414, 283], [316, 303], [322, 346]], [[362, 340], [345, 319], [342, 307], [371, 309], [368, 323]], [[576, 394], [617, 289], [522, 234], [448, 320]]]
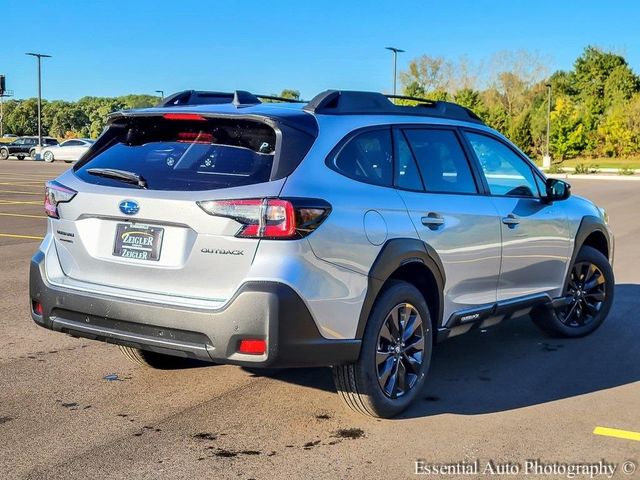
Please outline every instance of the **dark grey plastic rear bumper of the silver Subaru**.
[[[289, 286], [247, 282], [218, 310], [180, 308], [88, 294], [47, 282], [45, 255], [31, 259], [31, 316], [40, 326], [77, 337], [169, 355], [254, 367], [351, 363], [360, 340], [324, 338], [309, 310]], [[42, 305], [42, 315], [33, 310]], [[242, 339], [265, 339], [263, 355], [237, 351]]]

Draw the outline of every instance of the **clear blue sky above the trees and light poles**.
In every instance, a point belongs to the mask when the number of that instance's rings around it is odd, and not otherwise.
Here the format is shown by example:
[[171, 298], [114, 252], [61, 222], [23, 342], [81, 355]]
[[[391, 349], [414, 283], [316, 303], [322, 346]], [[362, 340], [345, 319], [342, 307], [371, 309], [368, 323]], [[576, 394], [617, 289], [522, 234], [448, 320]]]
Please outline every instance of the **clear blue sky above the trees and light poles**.
[[0, 0], [0, 74], [17, 98], [167, 94], [183, 89], [256, 93], [296, 88], [389, 91], [423, 53], [472, 61], [509, 49], [571, 67], [587, 44], [622, 53], [640, 73], [640, 2]]

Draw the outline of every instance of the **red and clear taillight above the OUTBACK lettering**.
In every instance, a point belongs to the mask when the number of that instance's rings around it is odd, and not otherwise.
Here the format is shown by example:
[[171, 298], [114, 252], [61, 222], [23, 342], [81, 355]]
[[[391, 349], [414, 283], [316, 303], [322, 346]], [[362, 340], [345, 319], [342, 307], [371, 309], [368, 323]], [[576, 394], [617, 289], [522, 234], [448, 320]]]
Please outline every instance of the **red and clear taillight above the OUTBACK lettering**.
[[198, 205], [209, 215], [241, 223], [236, 237], [272, 240], [305, 237], [331, 212], [331, 206], [324, 200], [306, 198], [207, 200]]

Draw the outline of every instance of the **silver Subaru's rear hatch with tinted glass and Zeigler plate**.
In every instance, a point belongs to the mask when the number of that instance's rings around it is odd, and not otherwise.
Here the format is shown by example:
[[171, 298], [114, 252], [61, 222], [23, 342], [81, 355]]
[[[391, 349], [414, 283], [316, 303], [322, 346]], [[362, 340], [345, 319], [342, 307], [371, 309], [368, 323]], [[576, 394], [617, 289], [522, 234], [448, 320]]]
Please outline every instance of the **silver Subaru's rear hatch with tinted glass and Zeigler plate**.
[[114, 120], [58, 180], [77, 191], [51, 223], [64, 274], [129, 291], [228, 299], [260, 240], [239, 238], [237, 216], [213, 216], [198, 202], [277, 197], [283, 144], [299, 147], [300, 138], [288, 137], [308, 137], [306, 150], [296, 150], [299, 163], [314, 139], [279, 127], [185, 113]]

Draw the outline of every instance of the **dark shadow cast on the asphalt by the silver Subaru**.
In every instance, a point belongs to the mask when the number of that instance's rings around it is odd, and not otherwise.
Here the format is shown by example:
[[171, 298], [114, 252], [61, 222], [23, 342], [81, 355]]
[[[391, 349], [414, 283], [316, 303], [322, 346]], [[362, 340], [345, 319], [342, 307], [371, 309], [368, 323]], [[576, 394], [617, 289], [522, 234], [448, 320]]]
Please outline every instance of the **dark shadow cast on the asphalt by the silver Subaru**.
[[[588, 337], [550, 338], [525, 317], [437, 345], [423, 392], [398, 418], [500, 412], [640, 380], [640, 285], [618, 284], [615, 296], [608, 319]], [[329, 369], [275, 377], [335, 391]]]

